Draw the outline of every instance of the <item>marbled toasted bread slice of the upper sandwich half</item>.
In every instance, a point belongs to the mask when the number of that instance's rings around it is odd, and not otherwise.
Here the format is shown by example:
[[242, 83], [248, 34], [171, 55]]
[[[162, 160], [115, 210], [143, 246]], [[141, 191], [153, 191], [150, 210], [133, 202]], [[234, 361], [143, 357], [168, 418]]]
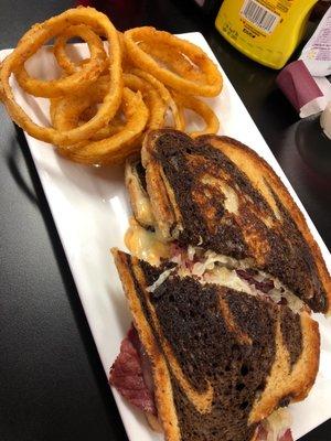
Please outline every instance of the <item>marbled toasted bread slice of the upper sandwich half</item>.
[[195, 141], [150, 132], [142, 162], [163, 238], [238, 259], [279, 278], [317, 312], [329, 312], [331, 279], [305, 217], [273, 169], [227, 137]]

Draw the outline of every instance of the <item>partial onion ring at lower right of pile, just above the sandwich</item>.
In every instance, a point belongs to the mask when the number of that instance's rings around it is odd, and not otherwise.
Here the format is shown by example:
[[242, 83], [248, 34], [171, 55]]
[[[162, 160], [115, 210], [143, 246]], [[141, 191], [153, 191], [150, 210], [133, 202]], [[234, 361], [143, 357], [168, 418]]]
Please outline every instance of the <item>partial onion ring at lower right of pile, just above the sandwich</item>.
[[220, 129], [220, 121], [209, 105], [195, 97], [190, 95], [181, 95], [177, 92], [173, 92], [173, 98], [182, 115], [184, 109], [191, 109], [195, 114], [200, 115], [205, 121], [204, 129], [189, 133], [192, 138], [196, 138], [201, 135], [217, 133]]

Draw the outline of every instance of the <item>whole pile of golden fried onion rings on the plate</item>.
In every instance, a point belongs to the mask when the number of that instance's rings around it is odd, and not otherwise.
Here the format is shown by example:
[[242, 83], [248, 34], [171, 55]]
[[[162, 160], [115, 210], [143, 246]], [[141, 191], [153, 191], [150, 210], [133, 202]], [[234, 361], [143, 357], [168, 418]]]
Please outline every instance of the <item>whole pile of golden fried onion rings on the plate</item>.
[[[74, 37], [89, 50], [79, 62], [66, 52]], [[25, 62], [53, 39], [60, 77], [32, 77]], [[26, 94], [50, 99], [50, 127], [36, 125], [18, 105], [12, 75]], [[140, 150], [147, 130], [186, 130], [184, 109], [205, 121], [192, 137], [217, 132], [216, 115], [196, 96], [217, 96], [221, 89], [222, 76], [200, 47], [149, 26], [122, 34], [94, 8], [68, 9], [33, 25], [0, 64], [0, 100], [13, 121], [86, 164], [124, 162]]]

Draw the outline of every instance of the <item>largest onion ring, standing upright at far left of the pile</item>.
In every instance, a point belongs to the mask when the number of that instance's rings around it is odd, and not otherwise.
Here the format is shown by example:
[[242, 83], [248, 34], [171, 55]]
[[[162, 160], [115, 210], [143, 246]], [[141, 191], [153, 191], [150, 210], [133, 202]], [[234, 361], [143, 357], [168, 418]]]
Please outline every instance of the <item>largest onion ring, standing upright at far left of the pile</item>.
[[[71, 130], [56, 130], [52, 127], [41, 127], [33, 122], [24, 110], [15, 103], [9, 78], [15, 71], [20, 71], [24, 62], [32, 56], [41, 45], [50, 39], [58, 35], [72, 24], [86, 24], [92, 28], [100, 28], [109, 43], [109, 90], [98, 108], [94, 118], [88, 122]], [[4, 58], [0, 71], [0, 84], [2, 87], [2, 100], [10, 117], [32, 137], [55, 146], [72, 146], [84, 139], [88, 139], [102, 127], [106, 126], [115, 116], [121, 100], [121, 53], [117, 31], [109, 19], [94, 8], [68, 9], [60, 15], [53, 17], [42, 24], [34, 25], [20, 40], [14, 51]]]

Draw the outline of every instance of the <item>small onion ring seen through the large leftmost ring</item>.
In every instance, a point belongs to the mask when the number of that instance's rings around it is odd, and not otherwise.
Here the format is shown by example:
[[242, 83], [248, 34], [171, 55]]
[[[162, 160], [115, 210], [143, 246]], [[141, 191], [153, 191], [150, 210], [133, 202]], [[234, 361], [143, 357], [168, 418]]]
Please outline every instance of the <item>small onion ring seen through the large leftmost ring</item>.
[[[89, 58], [84, 60], [84, 65], [78, 65], [74, 63], [65, 52], [65, 45], [67, 41], [73, 36], [79, 36], [88, 45], [90, 56]], [[75, 74], [77, 71], [82, 72], [83, 68], [90, 68], [90, 64], [97, 56], [99, 58], [95, 60], [95, 62], [98, 66], [98, 76], [105, 67], [105, 62], [103, 63], [103, 58], [106, 60], [104, 43], [102, 39], [90, 28], [84, 24], [70, 26], [61, 35], [58, 35], [54, 43], [53, 53], [58, 65], [67, 74]]]

